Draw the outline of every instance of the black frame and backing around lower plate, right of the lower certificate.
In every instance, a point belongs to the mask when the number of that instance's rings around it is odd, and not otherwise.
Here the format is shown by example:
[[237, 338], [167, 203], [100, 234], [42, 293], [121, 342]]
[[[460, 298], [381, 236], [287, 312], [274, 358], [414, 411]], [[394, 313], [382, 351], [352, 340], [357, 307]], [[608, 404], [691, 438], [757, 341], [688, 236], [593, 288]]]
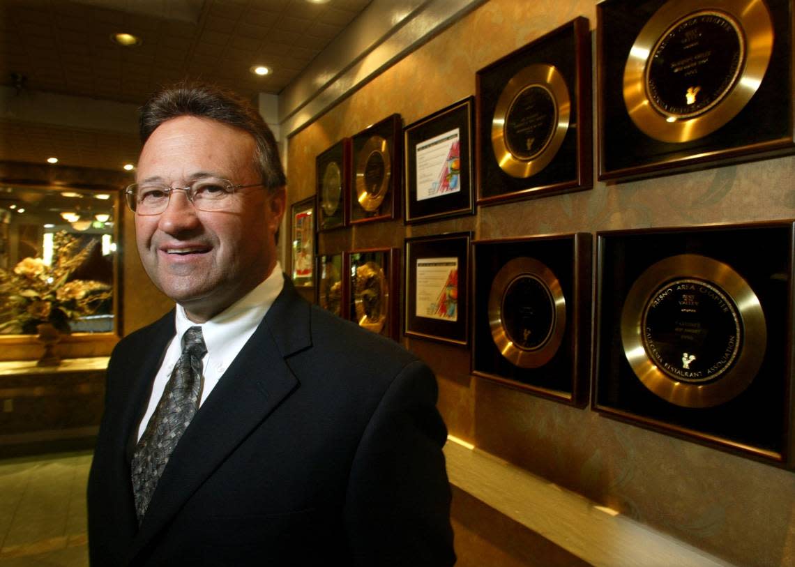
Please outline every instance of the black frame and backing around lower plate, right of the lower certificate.
[[[491, 240], [472, 245], [474, 263], [472, 373], [532, 394], [583, 406], [588, 398], [591, 320], [591, 235], [568, 234]], [[497, 349], [488, 318], [491, 282], [513, 258], [544, 263], [560, 282], [566, 300], [566, 329], [560, 347], [537, 368], [514, 366]]]

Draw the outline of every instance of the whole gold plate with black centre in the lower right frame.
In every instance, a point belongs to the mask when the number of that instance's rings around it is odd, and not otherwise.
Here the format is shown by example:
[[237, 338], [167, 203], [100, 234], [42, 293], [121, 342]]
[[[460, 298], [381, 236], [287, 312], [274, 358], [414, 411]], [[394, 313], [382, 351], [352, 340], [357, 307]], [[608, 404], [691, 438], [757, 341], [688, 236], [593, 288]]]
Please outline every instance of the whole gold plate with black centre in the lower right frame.
[[735, 270], [699, 254], [650, 266], [621, 314], [624, 354], [638, 379], [682, 407], [712, 407], [754, 380], [767, 344], [765, 315]]

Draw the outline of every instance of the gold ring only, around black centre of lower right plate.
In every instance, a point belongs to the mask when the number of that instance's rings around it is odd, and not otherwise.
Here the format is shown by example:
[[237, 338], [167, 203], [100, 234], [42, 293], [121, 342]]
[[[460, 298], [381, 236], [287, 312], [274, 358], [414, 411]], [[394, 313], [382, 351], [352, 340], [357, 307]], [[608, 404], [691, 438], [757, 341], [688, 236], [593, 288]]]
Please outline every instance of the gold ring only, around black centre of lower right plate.
[[[687, 382], [654, 363], [644, 340], [645, 317], [657, 291], [666, 283], [701, 281], [731, 302], [741, 336], [738, 350], [718, 378], [707, 383]], [[624, 355], [638, 379], [660, 398], [681, 407], [718, 406], [741, 394], [762, 365], [767, 344], [765, 314], [750, 285], [731, 266], [700, 254], [679, 254], [654, 263], [630, 288], [621, 314]], [[684, 348], [687, 348], [683, 344]], [[687, 353], [684, 353], [685, 355]], [[683, 359], [683, 363], [687, 362]]]

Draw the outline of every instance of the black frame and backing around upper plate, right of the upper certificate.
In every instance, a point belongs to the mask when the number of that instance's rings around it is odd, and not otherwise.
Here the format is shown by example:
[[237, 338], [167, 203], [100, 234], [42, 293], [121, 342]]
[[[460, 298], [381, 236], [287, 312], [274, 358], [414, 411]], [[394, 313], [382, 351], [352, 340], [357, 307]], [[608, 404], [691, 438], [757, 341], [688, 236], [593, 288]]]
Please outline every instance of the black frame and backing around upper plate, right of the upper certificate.
[[[591, 39], [588, 26], [588, 18], [577, 17], [477, 72], [478, 204], [591, 187]], [[572, 103], [571, 117], [563, 144], [553, 160], [537, 174], [522, 179], [503, 171], [494, 157], [491, 121], [508, 81], [523, 68], [537, 63], [553, 65], [564, 77]]]

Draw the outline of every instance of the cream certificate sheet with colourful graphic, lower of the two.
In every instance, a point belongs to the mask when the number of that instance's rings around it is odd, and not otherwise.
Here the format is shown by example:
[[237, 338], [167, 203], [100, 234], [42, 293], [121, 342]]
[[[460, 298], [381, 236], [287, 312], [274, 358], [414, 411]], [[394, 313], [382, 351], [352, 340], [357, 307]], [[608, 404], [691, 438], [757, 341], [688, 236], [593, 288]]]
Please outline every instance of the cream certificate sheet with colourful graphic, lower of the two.
[[458, 258], [417, 260], [417, 317], [458, 320]]

